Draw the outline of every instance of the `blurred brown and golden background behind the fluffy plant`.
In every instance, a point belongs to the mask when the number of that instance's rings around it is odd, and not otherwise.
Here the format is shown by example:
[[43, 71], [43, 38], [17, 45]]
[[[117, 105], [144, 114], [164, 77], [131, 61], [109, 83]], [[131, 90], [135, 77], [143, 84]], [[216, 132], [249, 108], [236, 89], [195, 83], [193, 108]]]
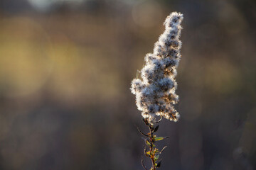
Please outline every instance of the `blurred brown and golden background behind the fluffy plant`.
[[254, 0], [1, 0], [0, 169], [142, 169], [129, 86], [172, 11], [181, 119], [159, 169], [256, 169]]

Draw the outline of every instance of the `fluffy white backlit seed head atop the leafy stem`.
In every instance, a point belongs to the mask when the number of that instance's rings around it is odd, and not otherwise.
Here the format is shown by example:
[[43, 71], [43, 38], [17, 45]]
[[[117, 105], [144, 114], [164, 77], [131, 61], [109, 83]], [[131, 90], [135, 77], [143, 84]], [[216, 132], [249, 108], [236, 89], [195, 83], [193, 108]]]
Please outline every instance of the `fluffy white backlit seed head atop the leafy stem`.
[[181, 21], [183, 14], [173, 12], [164, 21], [165, 30], [154, 45], [154, 52], [145, 56], [140, 71], [142, 79], [133, 79], [131, 91], [143, 118], [156, 122], [156, 115], [177, 121], [180, 115], [174, 109], [178, 103], [175, 80], [181, 59]]

